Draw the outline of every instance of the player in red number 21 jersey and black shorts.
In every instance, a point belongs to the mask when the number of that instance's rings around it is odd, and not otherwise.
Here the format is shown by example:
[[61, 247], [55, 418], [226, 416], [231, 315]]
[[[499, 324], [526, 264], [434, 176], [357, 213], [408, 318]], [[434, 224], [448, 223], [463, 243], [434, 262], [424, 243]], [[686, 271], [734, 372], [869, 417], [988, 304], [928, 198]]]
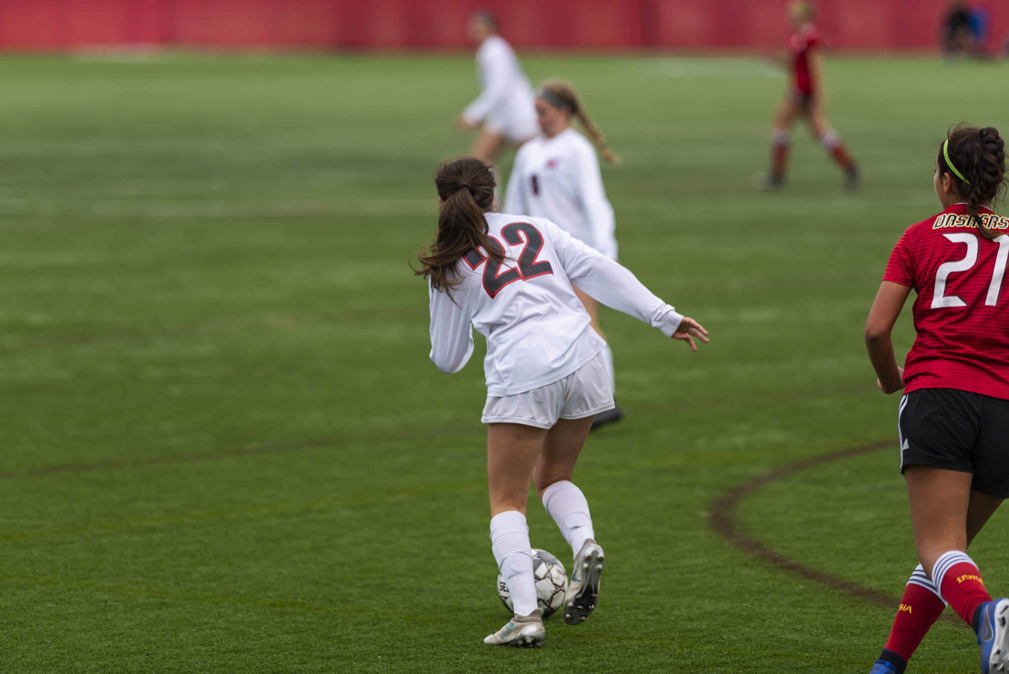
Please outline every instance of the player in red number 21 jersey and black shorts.
[[[1009, 218], [997, 129], [961, 124], [939, 146], [943, 210], [911, 225], [890, 256], [866, 322], [884, 393], [900, 400], [900, 469], [921, 562], [871, 674], [903, 674], [946, 604], [974, 628], [981, 671], [1009, 667], [1009, 599], [992, 601], [967, 547], [1009, 496]], [[914, 288], [917, 338], [905, 369], [891, 330]]]

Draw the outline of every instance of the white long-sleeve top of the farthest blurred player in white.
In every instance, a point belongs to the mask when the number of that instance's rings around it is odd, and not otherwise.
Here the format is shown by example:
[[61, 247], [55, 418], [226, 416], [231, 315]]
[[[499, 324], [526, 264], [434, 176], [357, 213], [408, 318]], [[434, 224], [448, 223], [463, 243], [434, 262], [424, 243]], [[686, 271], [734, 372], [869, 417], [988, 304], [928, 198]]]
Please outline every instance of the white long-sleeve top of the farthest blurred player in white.
[[476, 66], [482, 90], [463, 118], [471, 124], [485, 120], [489, 130], [515, 141], [536, 135], [536, 99], [512, 46], [500, 35], [489, 35], [476, 51]]

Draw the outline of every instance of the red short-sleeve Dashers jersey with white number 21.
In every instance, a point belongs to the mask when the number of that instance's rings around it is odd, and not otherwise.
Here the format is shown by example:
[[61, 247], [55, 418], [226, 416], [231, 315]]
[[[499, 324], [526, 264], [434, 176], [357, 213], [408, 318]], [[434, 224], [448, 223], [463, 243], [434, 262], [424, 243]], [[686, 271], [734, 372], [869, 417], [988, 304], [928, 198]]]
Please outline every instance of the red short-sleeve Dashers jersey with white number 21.
[[1009, 218], [988, 208], [981, 217], [996, 239], [959, 203], [908, 227], [890, 255], [883, 280], [918, 293], [907, 392], [956, 388], [1009, 399]]

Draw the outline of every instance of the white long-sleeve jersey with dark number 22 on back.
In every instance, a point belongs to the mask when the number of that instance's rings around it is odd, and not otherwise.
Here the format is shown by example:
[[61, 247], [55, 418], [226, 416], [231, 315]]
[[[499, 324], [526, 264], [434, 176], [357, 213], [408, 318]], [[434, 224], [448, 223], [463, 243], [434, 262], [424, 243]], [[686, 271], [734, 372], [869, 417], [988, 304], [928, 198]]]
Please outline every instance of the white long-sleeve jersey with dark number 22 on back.
[[[605, 342], [571, 288], [672, 336], [683, 316], [620, 264], [540, 217], [486, 213], [488, 236], [506, 260], [469, 251], [457, 263], [462, 282], [451, 291], [428, 287], [431, 360], [458, 372], [473, 354], [472, 327], [486, 338], [488, 396], [552, 384], [588, 363]], [[451, 294], [449, 294], [451, 293]]]

